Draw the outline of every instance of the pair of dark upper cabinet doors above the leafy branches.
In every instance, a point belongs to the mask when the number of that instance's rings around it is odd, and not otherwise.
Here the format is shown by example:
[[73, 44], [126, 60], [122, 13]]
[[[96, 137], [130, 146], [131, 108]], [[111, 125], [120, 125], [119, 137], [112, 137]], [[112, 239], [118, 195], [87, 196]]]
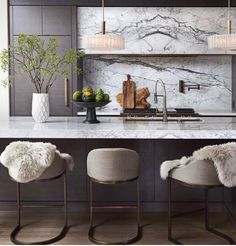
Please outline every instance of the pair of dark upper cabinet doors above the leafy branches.
[[71, 6], [13, 6], [13, 35], [71, 35]]

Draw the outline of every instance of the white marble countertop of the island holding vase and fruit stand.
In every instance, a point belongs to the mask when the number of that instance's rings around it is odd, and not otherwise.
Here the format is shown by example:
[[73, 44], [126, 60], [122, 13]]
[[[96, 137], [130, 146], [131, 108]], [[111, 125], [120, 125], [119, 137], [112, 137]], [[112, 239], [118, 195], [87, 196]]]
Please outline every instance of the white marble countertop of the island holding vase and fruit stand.
[[62, 139], [236, 139], [236, 119], [202, 118], [201, 121], [125, 121], [99, 117], [100, 124], [84, 124], [83, 117], [50, 117], [35, 123], [31, 117], [1, 119], [0, 138]]

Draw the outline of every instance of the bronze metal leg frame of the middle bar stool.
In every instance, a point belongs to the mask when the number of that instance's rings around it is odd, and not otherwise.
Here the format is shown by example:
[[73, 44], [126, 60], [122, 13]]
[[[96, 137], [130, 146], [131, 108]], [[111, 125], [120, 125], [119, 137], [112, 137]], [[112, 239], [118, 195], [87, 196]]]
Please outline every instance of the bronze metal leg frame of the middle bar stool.
[[[114, 182], [112, 184], [115, 184]], [[137, 242], [142, 237], [142, 228], [140, 226], [140, 190], [139, 190], [139, 180], [137, 179], [137, 205], [136, 206], [93, 206], [93, 180], [90, 179], [90, 228], [88, 232], [88, 238], [91, 242], [96, 244], [103, 244], [103, 245], [117, 245], [117, 244], [131, 244]], [[99, 239], [96, 239], [94, 236], [95, 230], [98, 225], [93, 224], [93, 212], [95, 208], [136, 208], [137, 210], [137, 232], [136, 235], [130, 239], [119, 241], [119, 242], [106, 242]]]

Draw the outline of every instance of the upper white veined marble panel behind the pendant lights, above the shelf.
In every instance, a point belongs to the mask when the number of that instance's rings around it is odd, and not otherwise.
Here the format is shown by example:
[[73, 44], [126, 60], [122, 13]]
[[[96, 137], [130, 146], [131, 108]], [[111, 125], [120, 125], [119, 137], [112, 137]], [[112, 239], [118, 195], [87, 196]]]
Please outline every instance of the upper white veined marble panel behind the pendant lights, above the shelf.
[[[231, 11], [235, 23], [236, 8]], [[208, 36], [227, 32], [226, 8], [107, 7], [105, 17], [107, 32], [126, 39], [118, 53], [216, 53], [207, 48]], [[86, 35], [101, 33], [101, 22], [101, 8], [78, 8], [78, 47]]]

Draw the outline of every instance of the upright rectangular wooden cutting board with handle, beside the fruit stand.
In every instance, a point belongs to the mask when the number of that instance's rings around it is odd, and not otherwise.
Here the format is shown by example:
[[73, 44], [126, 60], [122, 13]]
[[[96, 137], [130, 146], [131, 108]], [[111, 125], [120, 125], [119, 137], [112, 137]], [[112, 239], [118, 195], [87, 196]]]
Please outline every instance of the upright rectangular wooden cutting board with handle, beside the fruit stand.
[[127, 81], [123, 82], [123, 108], [135, 108], [135, 82], [127, 75]]

